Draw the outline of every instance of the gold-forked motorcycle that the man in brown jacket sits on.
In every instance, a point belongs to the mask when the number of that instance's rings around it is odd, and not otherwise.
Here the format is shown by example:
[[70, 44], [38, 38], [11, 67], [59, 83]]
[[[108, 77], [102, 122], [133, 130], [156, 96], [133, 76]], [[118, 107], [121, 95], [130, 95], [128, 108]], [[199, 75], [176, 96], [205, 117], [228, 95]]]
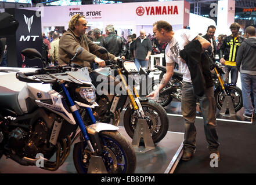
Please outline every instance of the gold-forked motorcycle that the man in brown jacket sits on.
[[[99, 51], [106, 53], [104, 49]], [[109, 87], [109, 91], [104, 91], [100, 95], [100, 90], [96, 91], [96, 102], [99, 104], [93, 109], [96, 120], [103, 123], [111, 123], [112, 120], [113, 125], [118, 125], [120, 113], [125, 109], [124, 127], [131, 138], [134, 136], [138, 119], [145, 119], [149, 125], [153, 142], [160, 142], [168, 131], [168, 116], [164, 108], [157, 102], [139, 97], [135, 86], [140, 83], [140, 76], [134, 61], [121, 59], [106, 61], [106, 66], [95, 69], [95, 72], [100, 73], [104, 79], [108, 79], [106, 85]], [[100, 88], [101, 84], [95, 86]], [[117, 92], [116, 90], [119, 89], [120, 91]]]

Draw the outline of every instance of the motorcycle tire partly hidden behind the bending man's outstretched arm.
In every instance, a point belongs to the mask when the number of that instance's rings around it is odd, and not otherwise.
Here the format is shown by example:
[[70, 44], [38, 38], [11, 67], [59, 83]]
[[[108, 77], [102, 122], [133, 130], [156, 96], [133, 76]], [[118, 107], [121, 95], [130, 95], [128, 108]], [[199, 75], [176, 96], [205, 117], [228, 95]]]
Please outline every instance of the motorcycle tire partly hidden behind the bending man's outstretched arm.
[[[152, 82], [152, 84], [149, 86], [149, 88], [147, 88], [148, 94], [150, 94], [150, 92], [152, 92], [153, 90], [156, 90], [156, 88], [159, 84], [160, 84], [160, 80], [154, 80]], [[169, 86], [171, 86], [170, 82], [168, 82], [168, 84], [161, 91], [165, 90], [165, 88], [167, 88]], [[163, 107], [169, 105], [171, 103], [171, 101], [172, 101], [172, 96], [171, 96], [170, 93], [168, 93], [168, 94], [159, 94], [159, 97], [156, 100], [156, 102], [158, 104], [160, 104], [161, 106], [163, 106]]]

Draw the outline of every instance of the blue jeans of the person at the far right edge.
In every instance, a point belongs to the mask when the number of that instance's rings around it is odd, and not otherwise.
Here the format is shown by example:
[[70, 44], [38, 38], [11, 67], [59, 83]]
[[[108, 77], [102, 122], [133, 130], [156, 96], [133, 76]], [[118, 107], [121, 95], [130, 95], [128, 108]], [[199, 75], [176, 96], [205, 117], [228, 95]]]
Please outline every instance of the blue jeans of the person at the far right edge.
[[253, 101], [254, 105], [256, 105], [256, 75], [241, 73], [241, 88], [243, 95], [244, 113], [251, 115], [255, 111], [251, 99], [251, 92], [253, 92]]

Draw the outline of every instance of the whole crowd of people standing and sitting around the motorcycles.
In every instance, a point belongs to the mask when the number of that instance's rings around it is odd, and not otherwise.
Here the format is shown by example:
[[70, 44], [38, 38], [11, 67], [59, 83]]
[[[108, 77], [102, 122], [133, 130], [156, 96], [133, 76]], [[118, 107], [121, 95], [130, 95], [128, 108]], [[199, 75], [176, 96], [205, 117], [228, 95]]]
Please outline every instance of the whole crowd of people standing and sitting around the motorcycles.
[[[237, 83], [238, 73], [241, 73], [241, 84], [243, 92], [244, 117], [251, 119], [254, 117], [256, 103], [256, 37], [255, 28], [249, 26], [245, 29], [245, 37], [239, 34], [240, 25], [233, 23], [230, 25], [230, 35], [218, 35], [215, 39], [216, 27], [210, 25], [206, 34], [198, 34], [189, 29], [173, 31], [172, 26], [167, 21], [157, 21], [153, 24], [154, 36], [146, 36], [144, 29], [140, 30], [138, 38], [135, 34], [127, 36], [127, 42], [123, 36], [118, 36], [114, 25], [107, 25], [106, 35], [102, 35], [99, 28], [92, 29], [86, 34], [87, 22], [85, 17], [76, 14], [69, 24], [66, 32], [59, 38], [57, 32], [50, 32], [48, 38], [42, 34], [43, 43], [47, 46], [45, 57], [49, 58], [52, 65], [66, 65], [70, 56], [74, 56], [75, 50], [82, 47], [81, 54], [75, 58], [74, 62], [82, 66], [87, 66], [92, 82], [98, 76], [92, 69], [93, 63], [104, 67], [107, 60], [106, 54], [100, 54], [97, 50], [103, 46], [109, 51], [111, 60], [118, 57], [134, 60], [136, 67], [147, 68], [150, 55], [152, 53], [165, 53], [165, 65], [167, 72], [161, 80], [160, 86], [147, 97], [155, 99], [174, 74], [175, 63], [178, 64], [179, 72], [183, 75], [182, 87], [182, 115], [185, 120], [184, 152], [182, 160], [190, 160], [196, 151], [196, 102], [200, 103], [201, 112], [204, 119], [205, 137], [208, 142], [210, 153], [216, 154], [218, 160], [219, 142], [216, 123], [216, 104], [214, 100], [214, 88], [208, 60], [205, 60], [203, 53], [210, 52], [212, 61], [218, 60], [225, 66], [225, 83], [229, 83], [229, 73], [231, 83]], [[202, 36], [200, 36], [202, 35]], [[197, 65], [195, 65], [197, 64]], [[198, 65], [200, 64], [200, 65]], [[200, 78], [198, 73], [200, 72]], [[253, 101], [251, 99], [251, 94]]]

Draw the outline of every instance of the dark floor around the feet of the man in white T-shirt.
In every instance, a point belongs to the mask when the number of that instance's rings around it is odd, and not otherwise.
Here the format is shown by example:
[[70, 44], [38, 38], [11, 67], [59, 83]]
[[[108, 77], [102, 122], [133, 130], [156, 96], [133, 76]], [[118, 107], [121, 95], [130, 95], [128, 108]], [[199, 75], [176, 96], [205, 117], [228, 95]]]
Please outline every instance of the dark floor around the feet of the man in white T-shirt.
[[[169, 115], [170, 131], [184, 132], [183, 118], [179, 117], [180, 102], [165, 107]], [[218, 111], [219, 112], [219, 111]], [[242, 108], [236, 116], [223, 117], [217, 112], [217, 131], [221, 160], [211, 168], [208, 143], [204, 135], [204, 123], [196, 119], [197, 147], [190, 161], [179, 161], [174, 173], [256, 173], [256, 121], [244, 119]]]

